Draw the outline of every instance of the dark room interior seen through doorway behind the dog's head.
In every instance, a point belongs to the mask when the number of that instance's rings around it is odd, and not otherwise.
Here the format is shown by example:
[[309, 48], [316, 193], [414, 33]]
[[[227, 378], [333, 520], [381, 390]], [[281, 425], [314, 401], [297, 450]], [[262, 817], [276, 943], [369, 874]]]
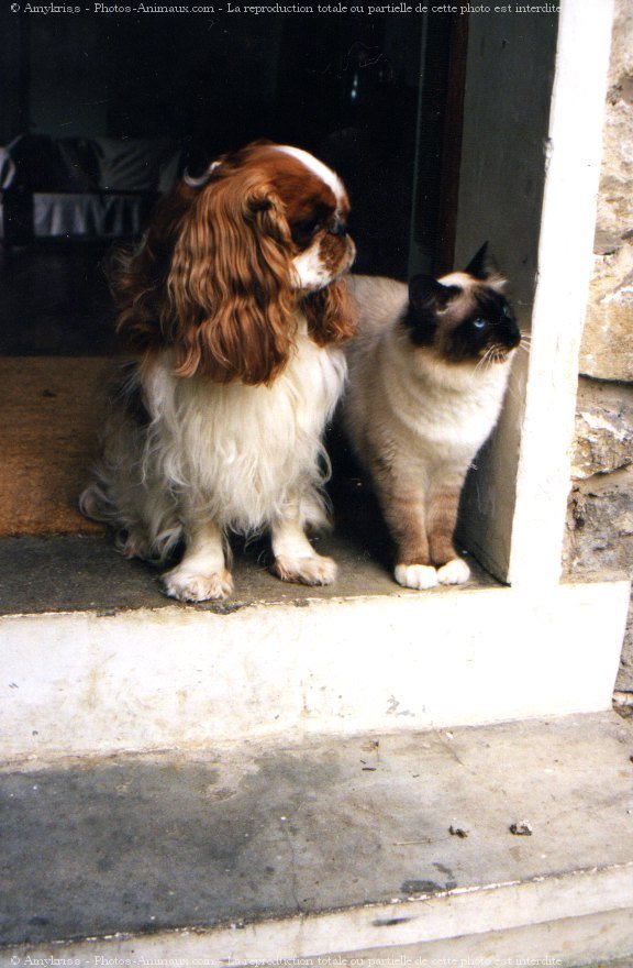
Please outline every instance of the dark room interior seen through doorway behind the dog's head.
[[[403, 279], [449, 262], [465, 18], [1, 16], [7, 43], [19, 43], [0, 125], [16, 167], [12, 183], [3, 173], [0, 353], [112, 351], [103, 256], [140, 231], [165, 184], [104, 234], [89, 218], [80, 231], [64, 219], [55, 231], [54, 218], [33, 227], [38, 194], [59, 205], [103, 194], [98, 167], [112, 145], [169, 145], [175, 177], [255, 138], [298, 144], [347, 185], [357, 272]], [[59, 174], [68, 164], [70, 182]]]

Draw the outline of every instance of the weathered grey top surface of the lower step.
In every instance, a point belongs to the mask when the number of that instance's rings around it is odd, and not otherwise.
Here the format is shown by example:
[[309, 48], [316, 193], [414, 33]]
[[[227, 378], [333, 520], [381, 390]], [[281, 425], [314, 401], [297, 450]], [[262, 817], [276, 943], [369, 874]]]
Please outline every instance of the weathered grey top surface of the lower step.
[[[0, 938], [208, 927], [628, 864], [632, 757], [633, 724], [600, 714], [5, 771]], [[522, 823], [531, 836], [511, 833]]]

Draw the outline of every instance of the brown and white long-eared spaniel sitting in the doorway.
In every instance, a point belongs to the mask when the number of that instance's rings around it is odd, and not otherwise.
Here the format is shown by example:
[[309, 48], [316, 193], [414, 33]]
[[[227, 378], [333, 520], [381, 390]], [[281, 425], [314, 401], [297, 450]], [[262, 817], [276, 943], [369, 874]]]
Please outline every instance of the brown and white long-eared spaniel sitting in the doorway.
[[181, 602], [233, 591], [230, 532], [269, 529], [278, 578], [336, 574], [306, 536], [325, 522], [322, 435], [345, 380], [355, 318], [342, 276], [349, 204], [307, 152], [255, 143], [185, 178], [113, 280], [136, 359], [111, 398], [82, 513], [126, 557], [181, 561]]

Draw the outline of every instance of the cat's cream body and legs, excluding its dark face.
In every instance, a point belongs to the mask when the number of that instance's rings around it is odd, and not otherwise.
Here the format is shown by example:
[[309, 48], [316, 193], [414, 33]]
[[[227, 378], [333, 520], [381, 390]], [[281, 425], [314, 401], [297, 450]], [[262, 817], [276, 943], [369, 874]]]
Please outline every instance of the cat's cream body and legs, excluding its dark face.
[[[465, 293], [473, 285], [464, 273], [441, 283]], [[452, 543], [447, 550], [446, 534], [434, 538], [433, 529], [446, 531], [443, 521], [452, 516], [452, 537], [466, 473], [499, 417], [512, 353], [490, 364], [444, 362], [414, 346], [400, 323], [407, 285], [353, 276], [349, 287], [360, 324], [346, 351], [343, 424], [396, 539], [395, 576], [415, 588], [459, 584], [468, 566]], [[413, 547], [421, 530], [427, 532], [431, 560], [408, 560], [424, 558]], [[420, 536], [422, 544], [425, 540]]]

